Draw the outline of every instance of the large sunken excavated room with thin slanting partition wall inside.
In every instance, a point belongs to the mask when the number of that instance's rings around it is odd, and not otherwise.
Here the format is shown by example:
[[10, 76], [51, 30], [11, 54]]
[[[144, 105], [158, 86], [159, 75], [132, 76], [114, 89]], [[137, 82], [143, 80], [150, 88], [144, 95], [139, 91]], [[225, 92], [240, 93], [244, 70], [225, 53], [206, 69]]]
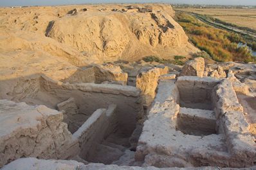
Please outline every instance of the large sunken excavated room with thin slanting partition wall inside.
[[140, 92], [135, 87], [59, 83], [44, 76], [5, 83], [14, 87], [1, 98], [46, 105], [63, 113], [63, 121], [79, 143], [76, 160], [103, 164], [133, 160], [140, 136], [137, 122], [143, 116]]

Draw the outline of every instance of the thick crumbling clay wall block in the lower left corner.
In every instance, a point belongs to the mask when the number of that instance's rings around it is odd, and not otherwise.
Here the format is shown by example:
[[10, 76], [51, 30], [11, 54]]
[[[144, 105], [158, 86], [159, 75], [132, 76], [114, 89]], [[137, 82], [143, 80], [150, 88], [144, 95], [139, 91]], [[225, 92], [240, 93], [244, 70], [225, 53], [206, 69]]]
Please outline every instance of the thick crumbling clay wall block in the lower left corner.
[[21, 157], [65, 159], [78, 151], [62, 113], [0, 100], [0, 167]]

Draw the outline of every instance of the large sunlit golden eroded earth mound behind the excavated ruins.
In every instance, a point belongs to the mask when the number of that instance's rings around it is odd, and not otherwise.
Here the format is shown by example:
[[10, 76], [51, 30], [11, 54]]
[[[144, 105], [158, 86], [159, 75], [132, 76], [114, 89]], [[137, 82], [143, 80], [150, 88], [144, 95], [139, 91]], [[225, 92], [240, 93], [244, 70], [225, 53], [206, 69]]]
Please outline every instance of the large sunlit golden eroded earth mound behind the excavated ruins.
[[66, 76], [75, 66], [197, 51], [165, 4], [1, 8], [0, 14], [0, 68], [8, 74]]

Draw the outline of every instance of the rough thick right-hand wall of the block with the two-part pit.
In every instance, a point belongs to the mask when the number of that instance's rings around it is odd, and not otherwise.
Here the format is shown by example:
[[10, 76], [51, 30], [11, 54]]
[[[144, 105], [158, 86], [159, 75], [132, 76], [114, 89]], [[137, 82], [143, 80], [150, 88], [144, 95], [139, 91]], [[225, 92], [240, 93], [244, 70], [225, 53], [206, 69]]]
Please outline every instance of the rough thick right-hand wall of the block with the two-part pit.
[[255, 164], [255, 137], [250, 133], [242, 105], [239, 103], [232, 82], [223, 80], [216, 87], [215, 114], [218, 117], [219, 133], [226, 136], [226, 144], [233, 157], [244, 160], [244, 164]]

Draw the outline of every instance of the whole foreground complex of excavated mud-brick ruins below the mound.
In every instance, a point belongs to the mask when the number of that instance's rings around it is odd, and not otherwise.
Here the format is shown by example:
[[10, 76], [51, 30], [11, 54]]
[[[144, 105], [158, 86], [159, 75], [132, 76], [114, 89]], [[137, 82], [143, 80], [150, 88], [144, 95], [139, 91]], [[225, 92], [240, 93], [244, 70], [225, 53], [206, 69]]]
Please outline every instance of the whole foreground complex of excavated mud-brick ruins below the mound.
[[[114, 71], [89, 67], [70, 82], [42, 74], [3, 81], [0, 166], [253, 169], [255, 121], [245, 114], [255, 114], [246, 105], [250, 88], [232, 71], [227, 78], [197, 76], [201, 66], [189, 65], [198, 61], [183, 67], [189, 76], [144, 67], [136, 87], [109, 64]], [[87, 80], [75, 83], [78, 75]]]

